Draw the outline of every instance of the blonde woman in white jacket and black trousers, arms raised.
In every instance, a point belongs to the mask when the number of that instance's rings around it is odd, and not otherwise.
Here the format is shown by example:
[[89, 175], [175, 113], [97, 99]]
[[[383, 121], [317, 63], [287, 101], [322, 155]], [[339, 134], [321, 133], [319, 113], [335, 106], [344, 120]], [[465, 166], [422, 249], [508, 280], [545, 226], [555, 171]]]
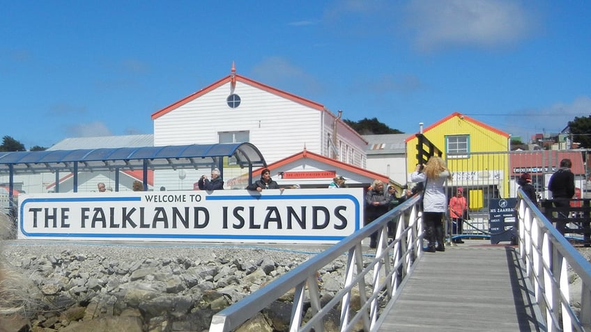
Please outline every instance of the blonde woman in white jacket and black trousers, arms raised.
[[447, 197], [443, 186], [447, 180], [452, 180], [452, 173], [447, 169], [445, 161], [437, 156], [429, 158], [424, 169], [419, 164], [410, 174], [410, 181], [424, 183], [422, 217], [427, 235], [425, 251], [429, 253], [445, 251], [443, 214], [447, 210]]

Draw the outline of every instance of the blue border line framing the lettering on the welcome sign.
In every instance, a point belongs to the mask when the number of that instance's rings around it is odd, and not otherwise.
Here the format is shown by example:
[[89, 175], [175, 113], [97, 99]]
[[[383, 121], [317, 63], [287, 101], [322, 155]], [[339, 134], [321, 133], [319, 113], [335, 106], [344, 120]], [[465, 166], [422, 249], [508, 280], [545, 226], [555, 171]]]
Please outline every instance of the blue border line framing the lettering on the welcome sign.
[[[360, 202], [353, 195], [349, 194], [335, 194], [335, 195], [236, 195], [236, 196], [205, 196], [206, 200], [336, 200], [336, 199], [348, 199], [353, 202], [357, 212], [355, 213], [355, 231], [360, 229]], [[233, 239], [233, 240], [315, 240], [315, 241], [340, 241], [346, 236], [304, 236], [304, 235], [215, 235], [215, 234], [121, 234], [121, 233], [29, 233], [24, 230], [24, 206], [26, 203], [37, 203], [37, 202], [134, 202], [141, 201], [141, 197], [75, 197], [75, 198], [27, 198], [20, 205], [19, 215], [19, 227], [23, 235], [27, 237], [55, 237], [55, 238], [129, 238], [129, 239]]]

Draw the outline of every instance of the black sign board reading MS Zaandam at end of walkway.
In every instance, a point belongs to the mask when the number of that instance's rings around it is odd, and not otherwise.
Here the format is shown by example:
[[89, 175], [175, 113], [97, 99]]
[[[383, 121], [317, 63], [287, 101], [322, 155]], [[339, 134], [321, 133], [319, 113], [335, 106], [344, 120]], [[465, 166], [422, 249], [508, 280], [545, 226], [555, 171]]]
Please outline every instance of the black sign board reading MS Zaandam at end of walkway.
[[491, 198], [489, 200], [489, 231], [491, 244], [511, 241], [517, 222], [517, 198]]

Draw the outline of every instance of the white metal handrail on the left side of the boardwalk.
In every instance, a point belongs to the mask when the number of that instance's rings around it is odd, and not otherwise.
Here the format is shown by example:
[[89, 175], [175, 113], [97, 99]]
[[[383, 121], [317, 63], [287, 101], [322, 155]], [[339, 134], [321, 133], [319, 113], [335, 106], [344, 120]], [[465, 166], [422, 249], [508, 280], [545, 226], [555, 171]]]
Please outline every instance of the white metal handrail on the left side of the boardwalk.
[[[412, 274], [415, 262], [422, 255], [419, 203], [420, 196], [409, 198], [328, 250], [220, 311], [213, 316], [209, 331], [227, 332], [236, 329], [294, 288], [289, 331], [324, 331], [323, 319], [330, 310], [339, 310], [340, 331], [353, 331], [355, 324], [362, 324], [364, 331], [376, 331], [381, 324], [378, 319], [384, 310], [379, 305], [380, 301], [390, 301], [397, 297], [401, 291], [399, 286]], [[389, 221], [397, 221], [396, 237], [391, 242], [387, 237]], [[367, 262], [367, 259], [364, 261], [362, 240], [373, 232], [378, 232], [378, 249], [371, 262]], [[321, 306], [317, 273], [342, 255], [347, 255], [344, 286], [328, 303]], [[366, 276], [373, 280], [372, 285], [369, 285], [371, 290], [366, 288]], [[351, 298], [357, 293], [360, 308], [353, 309]], [[371, 293], [369, 297], [368, 293]], [[306, 300], [311, 304], [313, 315], [307, 322], [303, 322]]]

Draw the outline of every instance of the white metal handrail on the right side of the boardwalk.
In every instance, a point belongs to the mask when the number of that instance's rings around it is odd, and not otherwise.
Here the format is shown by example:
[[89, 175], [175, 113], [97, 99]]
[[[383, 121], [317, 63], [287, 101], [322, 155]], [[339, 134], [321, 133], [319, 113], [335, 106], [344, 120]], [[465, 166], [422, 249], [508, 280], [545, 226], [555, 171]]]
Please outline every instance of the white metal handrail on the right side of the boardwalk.
[[[556, 230], [537, 205], [517, 191], [519, 253], [535, 298], [546, 320], [546, 331], [591, 331], [591, 263]], [[567, 269], [581, 278], [581, 308], [570, 301]]]

